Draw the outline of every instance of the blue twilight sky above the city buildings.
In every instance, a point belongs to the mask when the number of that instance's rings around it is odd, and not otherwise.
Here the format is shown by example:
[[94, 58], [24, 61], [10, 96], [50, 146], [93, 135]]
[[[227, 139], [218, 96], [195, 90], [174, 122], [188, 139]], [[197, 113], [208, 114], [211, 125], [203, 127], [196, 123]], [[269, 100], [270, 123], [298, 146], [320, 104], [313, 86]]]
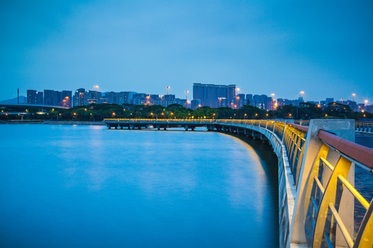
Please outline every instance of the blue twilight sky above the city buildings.
[[184, 98], [214, 83], [373, 101], [370, 0], [3, 0], [0, 37], [0, 100], [93, 85]]

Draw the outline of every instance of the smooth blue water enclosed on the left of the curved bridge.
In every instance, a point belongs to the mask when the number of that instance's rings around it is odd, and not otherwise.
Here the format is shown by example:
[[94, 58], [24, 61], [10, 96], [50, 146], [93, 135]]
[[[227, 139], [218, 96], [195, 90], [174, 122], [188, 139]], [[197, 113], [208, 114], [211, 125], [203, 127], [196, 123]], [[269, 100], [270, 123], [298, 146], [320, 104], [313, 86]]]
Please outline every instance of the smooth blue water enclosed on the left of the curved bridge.
[[276, 156], [216, 132], [0, 126], [0, 247], [278, 247]]

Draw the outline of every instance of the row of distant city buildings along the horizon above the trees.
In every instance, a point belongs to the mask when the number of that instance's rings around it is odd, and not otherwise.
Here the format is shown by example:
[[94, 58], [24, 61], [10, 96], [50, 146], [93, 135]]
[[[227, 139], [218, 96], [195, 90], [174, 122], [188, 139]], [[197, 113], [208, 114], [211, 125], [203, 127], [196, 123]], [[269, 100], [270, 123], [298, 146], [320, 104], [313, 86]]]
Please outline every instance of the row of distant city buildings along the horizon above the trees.
[[[236, 85], [213, 85], [213, 84], [193, 84], [193, 92], [184, 91], [186, 99], [175, 97], [175, 94], [169, 94], [170, 87], [167, 86], [167, 94], [149, 94], [139, 92], [100, 92], [97, 91], [98, 85], [94, 86], [95, 90], [86, 90], [79, 88], [74, 91], [62, 90], [44, 90], [38, 92], [37, 90], [27, 90], [27, 97], [20, 96], [19, 99], [9, 99], [8, 101], [0, 101], [3, 104], [17, 104], [23, 105], [48, 105], [58, 107], [77, 107], [82, 105], [89, 105], [90, 103], [108, 103], [108, 104], [133, 104], [133, 105], [163, 105], [167, 107], [171, 104], [182, 105], [183, 107], [195, 110], [199, 107], [208, 106], [216, 107], [230, 107], [238, 110], [245, 105], [251, 105], [264, 110], [277, 110], [278, 107], [284, 105], [298, 106], [301, 103], [312, 103], [317, 107], [325, 108], [329, 103], [341, 103], [348, 105], [353, 111], [373, 111], [373, 104], [365, 100], [362, 103], [356, 102], [356, 94], [352, 95], [352, 99], [334, 99], [333, 97], [326, 98], [320, 101], [307, 101], [303, 98], [305, 92], [300, 92], [298, 99], [283, 99], [276, 98], [275, 94], [267, 96], [266, 94], [242, 94]], [[187, 101], [187, 94], [193, 94], [193, 100]], [[21, 99], [21, 101], [19, 101]], [[190, 98], [189, 98], [190, 99]]]

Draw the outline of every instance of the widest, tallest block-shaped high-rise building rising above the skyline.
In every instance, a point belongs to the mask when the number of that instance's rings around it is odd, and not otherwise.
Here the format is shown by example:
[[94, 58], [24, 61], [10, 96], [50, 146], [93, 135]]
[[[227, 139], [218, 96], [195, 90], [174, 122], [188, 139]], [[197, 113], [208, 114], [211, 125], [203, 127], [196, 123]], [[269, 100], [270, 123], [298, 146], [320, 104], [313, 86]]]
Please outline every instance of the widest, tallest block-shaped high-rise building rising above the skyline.
[[201, 106], [218, 107], [219, 98], [233, 99], [236, 85], [193, 84], [193, 99], [200, 100]]

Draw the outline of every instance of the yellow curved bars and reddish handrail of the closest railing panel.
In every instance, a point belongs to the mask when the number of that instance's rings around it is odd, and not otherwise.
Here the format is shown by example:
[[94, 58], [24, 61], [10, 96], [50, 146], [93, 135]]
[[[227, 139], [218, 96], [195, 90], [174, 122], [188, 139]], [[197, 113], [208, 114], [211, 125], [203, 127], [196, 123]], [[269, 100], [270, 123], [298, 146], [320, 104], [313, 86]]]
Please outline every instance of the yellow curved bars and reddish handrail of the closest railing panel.
[[[351, 141], [347, 141], [341, 137], [320, 130], [318, 132], [318, 138], [322, 141], [323, 145], [318, 151], [316, 160], [312, 165], [312, 171], [309, 174], [309, 179], [306, 187], [306, 198], [305, 198], [305, 231], [313, 231], [312, 240], [309, 241], [313, 247], [320, 247], [322, 242], [327, 242], [328, 245], [336, 245], [336, 229], [327, 225], [327, 222], [331, 220], [328, 219], [328, 211], [332, 212], [334, 216], [334, 221], [341, 229], [341, 234], [347, 245], [349, 247], [358, 247], [365, 244], [370, 244], [369, 247], [373, 245], [372, 234], [368, 234], [365, 229], [373, 225], [372, 203], [368, 203], [363, 196], [355, 189], [355, 187], [347, 180], [347, 174], [350, 172], [350, 167], [352, 163], [356, 165], [369, 168], [372, 171], [373, 166], [373, 149], [358, 145]], [[336, 165], [332, 165], [327, 160], [329, 152], [337, 152], [340, 157]], [[321, 167], [323, 165], [323, 167]], [[319, 178], [323, 178], [323, 168], [329, 168], [332, 174], [329, 176], [324, 186]], [[338, 214], [340, 203], [338, 200], [341, 197], [338, 187], [339, 182], [351, 192], [352, 196], [358, 200], [359, 203], [367, 210], [361, 228], [358, 231], [358, 239], [354, 240], [351, 234], [347, 230], [345, 223], [343, 222], [341, 216]], [[316, 191], [313, 186], [316, 183], [319, 192]], [[325, 187], [325, 188], [324, 188]], [[316, 203], [314, 196], [321, 198]], [[312, 210], [314, 209], [314, 211]], [[316, 221], [314, 221], [316, 220]], [[309, 221], [311, 221], [313, 229], [309, 230]]]

